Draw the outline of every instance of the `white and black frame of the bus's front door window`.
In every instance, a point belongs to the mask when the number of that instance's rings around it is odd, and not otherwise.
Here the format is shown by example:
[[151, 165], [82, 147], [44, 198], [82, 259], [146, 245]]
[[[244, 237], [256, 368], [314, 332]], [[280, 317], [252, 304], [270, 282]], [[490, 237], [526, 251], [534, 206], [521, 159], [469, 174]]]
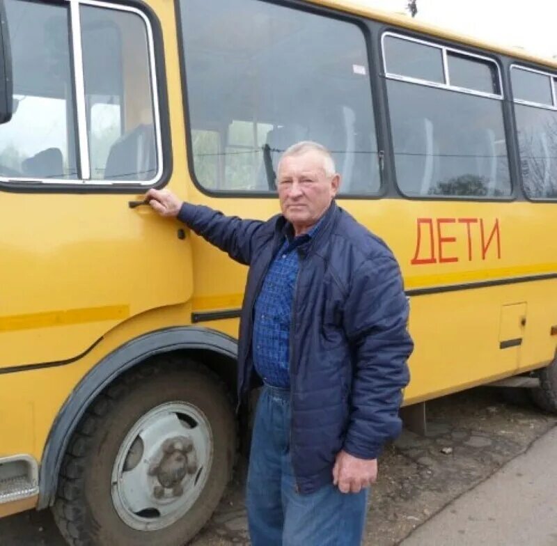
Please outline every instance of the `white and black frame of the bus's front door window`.
[[[45, 3], [48, 1], [34, 0], [38, 3]], [[72, 115], [76, 120], [76, 127], [72, 136], [78, 143], [76, 148], [76, 157], [79, 163], [79, 174], [82, 171], [82, 158], [86, 156], [86, 164], [88, 164], [88, 146], [81, 148], [83, 142], [81, 137], [81, 126], [87, 132], [86, 125], [86, 109], [81, 112], [81, 117], [78, 111], [78, 103], [80, 100], [85, 107], [85, 94], [81, 98], [78, 96], [77, 85], [78, 79], [84, 81], [84, 66], [83, 57], [81, 55], [81, 13], [79, 11], [81, 6], [92, 6], [97, 8], [123, 11], [127, 13], [134, 13], [141, 17], [143, 24], [146, 27], [146, 37], [148, 46], [148, 70], [152, 102], [152, 115], [153, 125], [155, 127], [155, 151], [157, 153], [157, 175], [151, 180], [130, 180], [130, 182], [123, 182], [122, 180], [98, 180], [94, 178], [85, 179], [83, 177], [76, 180], [65, 179], [52, 179], [52, 178], [29, 178], [29, 177], [0, 177], [0, 191], [11, 193], [62, 193], [62, 194], [137, 194], [138, 192], [145, 192], [146, 189], [151, 187], [160, 188], [164, 187], [168, 180], [171, 178], [173, 169], [172, 160], [172, 144], [170, 133], [170, 114], [168, 105], [168, 90], [166, 83], [165, 72], [165, 59], [164, 59], [164, 41], [162, 26], [155, 11], [143, 3], [141, 0], [125, 0], [121, 3], [102, 0], [62, 0], [63, 3], [68, 5], [68, 23], [70, 24], [69, 32], [69, 46], [71, 63], [70, 70], [72, 76], [73, 92], [74, 92], [74, 111]], [[77, 15], [74, 15], [74, 12]], [[74, 17], [79, 21], [79, 29], [76, 32], [74, 26]], [[79, 36], [79, 38], [76, 37]], [[79, 56], [76, 54], [74, 47], [76, 40], [79, 40]], [[125, 107], [125, 105], [123, 105]], [[86, 135], [87, 137], [87, 135]], [[88, 139], [87, 139], [88, 140]]]

